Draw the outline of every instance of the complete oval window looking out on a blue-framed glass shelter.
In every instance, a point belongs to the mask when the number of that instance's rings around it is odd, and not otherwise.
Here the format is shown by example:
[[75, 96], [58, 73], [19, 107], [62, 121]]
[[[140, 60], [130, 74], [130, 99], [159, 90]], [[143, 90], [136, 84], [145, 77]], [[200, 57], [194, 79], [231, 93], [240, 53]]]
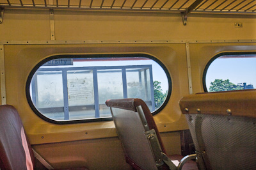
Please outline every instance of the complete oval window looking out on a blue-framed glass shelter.
[[40, 62], [26, 88], [38, 116], [77, 123], [111, 120], [108, 99], [141, 98], [156, 114], [170, 98], [171, 81], [164, 65], [146, 54], [62, 55]]

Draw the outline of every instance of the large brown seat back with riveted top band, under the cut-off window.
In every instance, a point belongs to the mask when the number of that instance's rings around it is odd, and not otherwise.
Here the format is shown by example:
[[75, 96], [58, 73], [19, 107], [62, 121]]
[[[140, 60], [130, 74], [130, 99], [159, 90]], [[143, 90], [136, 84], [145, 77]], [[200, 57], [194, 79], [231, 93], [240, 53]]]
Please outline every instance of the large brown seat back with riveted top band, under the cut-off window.
[[256, 169], [256, 90], [188, 95], [180, 100], [200, 169]]

